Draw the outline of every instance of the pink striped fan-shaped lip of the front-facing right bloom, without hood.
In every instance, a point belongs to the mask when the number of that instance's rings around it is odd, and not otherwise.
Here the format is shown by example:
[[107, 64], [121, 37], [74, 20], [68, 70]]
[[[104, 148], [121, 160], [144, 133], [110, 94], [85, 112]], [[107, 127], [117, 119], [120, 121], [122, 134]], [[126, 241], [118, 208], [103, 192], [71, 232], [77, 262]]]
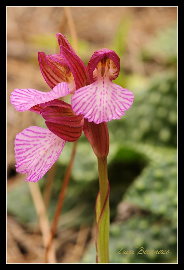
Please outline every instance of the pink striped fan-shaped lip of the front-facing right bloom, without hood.
[[120, 119], [133, 103], [133, 93], [102, 77], [75, 91], [71, 106], [76, 115], [83, 114], [89, 122], [99, 124]]

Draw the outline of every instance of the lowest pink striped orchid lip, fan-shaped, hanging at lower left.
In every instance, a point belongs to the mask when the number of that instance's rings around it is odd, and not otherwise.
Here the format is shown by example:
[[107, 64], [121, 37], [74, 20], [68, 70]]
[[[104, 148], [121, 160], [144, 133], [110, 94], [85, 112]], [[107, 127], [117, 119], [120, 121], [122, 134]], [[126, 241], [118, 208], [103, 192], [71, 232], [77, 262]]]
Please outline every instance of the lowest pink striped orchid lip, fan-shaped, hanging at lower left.
[[46, 128], [24, 129], [15, 138], [16, 171], [27, 173], [26, 182], [37, 182], [56, 162], [65, 143]]

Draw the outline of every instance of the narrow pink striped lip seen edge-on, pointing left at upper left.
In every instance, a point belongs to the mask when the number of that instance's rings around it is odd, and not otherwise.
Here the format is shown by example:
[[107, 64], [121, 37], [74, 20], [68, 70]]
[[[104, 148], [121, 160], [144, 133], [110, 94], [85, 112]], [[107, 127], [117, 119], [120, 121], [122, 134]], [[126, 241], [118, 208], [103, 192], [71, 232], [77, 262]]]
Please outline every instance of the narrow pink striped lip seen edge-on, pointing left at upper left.
[[68, 84], [61, 82], [56, 85], [50, 92], [41, 92], [35, 89], [15, 89], [11, 93], [11, 103], [19, 112], [29, 110], [34, 105], [51, 101], [61, 96], [69, 94]]

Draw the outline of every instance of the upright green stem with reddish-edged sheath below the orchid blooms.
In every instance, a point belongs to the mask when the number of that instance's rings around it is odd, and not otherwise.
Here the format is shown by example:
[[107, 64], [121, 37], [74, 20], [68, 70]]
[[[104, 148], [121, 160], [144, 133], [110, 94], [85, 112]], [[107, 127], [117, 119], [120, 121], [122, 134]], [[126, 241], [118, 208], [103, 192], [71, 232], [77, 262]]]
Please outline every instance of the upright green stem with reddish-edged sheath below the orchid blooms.
[[100, 194], [96, 203], [97, 219], [97, 263], [109, 263], [109, 187], [107, 158], [98, 158]]

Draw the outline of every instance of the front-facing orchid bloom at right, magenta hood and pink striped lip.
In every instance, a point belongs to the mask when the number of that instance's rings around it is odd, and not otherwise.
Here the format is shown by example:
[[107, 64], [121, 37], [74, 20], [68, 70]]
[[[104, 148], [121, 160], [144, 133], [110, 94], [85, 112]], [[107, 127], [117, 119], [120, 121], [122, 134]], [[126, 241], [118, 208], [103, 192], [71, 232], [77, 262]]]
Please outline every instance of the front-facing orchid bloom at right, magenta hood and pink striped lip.
[[109, 49], [96, 51], [87, 66], [88, 82], [71, 97], [75, 114], [99, 124], [120, 119], [133, 103], [133, 93], [112, 82], [119, 74], [120, 59]]

